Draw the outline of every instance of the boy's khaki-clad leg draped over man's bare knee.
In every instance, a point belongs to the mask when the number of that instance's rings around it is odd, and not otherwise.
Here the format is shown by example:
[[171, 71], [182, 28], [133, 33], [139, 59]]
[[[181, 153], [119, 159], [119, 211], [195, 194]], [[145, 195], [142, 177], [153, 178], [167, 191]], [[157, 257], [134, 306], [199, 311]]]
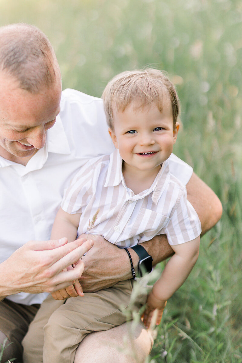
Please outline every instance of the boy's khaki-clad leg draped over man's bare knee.
[[67, 299], [44, 327], [43, 362], [73, 363], [75, 351], [87, 334], [125, 322], [126, 316], [119, 306], [129, 305], [131, 291], [132, 282], [127, 280], [105, 290], [85, 293], [84, 297]]

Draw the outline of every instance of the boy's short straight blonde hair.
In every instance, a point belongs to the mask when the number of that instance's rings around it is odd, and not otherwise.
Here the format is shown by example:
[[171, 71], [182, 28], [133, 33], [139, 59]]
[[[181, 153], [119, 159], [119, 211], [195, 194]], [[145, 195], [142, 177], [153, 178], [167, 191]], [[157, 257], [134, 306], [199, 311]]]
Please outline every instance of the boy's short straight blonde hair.
[[124, 111], [132, 102], [135, 102], [137, 107], [155, 103], [162, 112], [166, 96], [171, 101], [175, 127], [179, 114], [179, 98], [175, 86], [168, 77], [153, 68], [122, 72], [108, 82], [102, 94], [107, 124], [113, 130], [114, 110]]

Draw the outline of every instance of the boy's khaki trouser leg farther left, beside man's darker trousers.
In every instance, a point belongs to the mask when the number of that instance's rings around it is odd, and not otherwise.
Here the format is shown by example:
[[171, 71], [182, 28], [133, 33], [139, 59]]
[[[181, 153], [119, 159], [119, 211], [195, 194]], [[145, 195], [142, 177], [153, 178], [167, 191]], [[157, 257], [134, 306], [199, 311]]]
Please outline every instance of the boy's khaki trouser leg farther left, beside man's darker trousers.
[[24, 363], [43, 362], [44, 326], [48, 323], [50, 315], [65, 301], [55, 300], [49, 295], [42, 302], [34, 320], [29, 325], [27, 334], [22, 340]]

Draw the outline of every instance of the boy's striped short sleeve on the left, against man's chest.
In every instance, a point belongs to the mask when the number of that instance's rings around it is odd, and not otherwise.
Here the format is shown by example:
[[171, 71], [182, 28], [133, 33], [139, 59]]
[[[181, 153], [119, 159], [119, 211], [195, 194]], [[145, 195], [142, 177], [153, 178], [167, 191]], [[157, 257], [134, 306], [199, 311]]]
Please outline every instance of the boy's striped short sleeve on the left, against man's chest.
[[93, 195], [94, 168], [90, 162], [84, 164], [65, 189], [61, 203], [63, 211], [74, 214], [82, 213]]

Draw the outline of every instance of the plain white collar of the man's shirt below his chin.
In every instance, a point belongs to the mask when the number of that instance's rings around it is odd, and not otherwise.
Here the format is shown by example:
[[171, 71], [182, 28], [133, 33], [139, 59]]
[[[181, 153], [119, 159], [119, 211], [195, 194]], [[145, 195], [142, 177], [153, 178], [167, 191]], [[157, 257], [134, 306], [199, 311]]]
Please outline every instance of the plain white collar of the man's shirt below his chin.
[[45, 146], [36, 152], [36, 154], [29, 160], [26, 166], [14, 163], [0, 156], [0, 168], [13, 165], [16, 168], [25, 169], [25, 172], [37, 170], [40, 169], [46, 162], [48, 158], [48, 152], [66, 155], [69, 155], [71, 153], [66, 133], [59, 115], [56, 118], [55, 125], [46, 133]]

